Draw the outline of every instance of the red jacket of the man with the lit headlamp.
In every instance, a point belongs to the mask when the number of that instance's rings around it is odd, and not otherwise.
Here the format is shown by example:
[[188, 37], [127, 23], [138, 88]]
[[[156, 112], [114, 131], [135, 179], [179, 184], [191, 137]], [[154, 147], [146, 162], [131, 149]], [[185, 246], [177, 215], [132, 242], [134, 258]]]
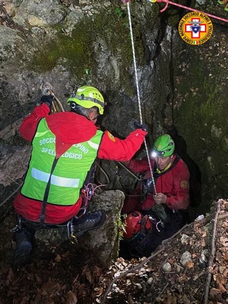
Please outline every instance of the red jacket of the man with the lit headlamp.
[[[177, 156], [174, 155], [173, 162]], [[152, 170], [154, 160], [151, 160]], [[148, 159], [136, 160], [132, 159], [127, 167], [135, 173], [145, 173], [145, 179], [151, 177]], [[189, 205], [189, 171], [187, 165], [182, 159], [179, 159], [170, 170], [167, 170], [163, 175], [158, 175], [155, 181], [157, 193], [163, 193], [167, 196], [165, 204], [170, 209], [184, 210]], [[139, 194], [139, 189], [135, 193]], [[134, 210], [149, 210], [155, 204], [153, 196], [149, 194], [146, 200], [140, 203], [140, 197], [129, 197], [126, 200], [123, 212], [129, 213]]]

